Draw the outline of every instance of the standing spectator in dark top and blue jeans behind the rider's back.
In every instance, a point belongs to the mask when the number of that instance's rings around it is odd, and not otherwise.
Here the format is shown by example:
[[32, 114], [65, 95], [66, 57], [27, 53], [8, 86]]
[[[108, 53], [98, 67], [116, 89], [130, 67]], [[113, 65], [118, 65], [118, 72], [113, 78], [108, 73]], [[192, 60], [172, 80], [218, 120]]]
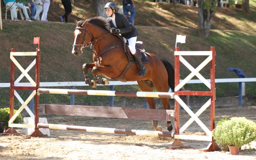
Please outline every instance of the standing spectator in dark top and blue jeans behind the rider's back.
[[[134, 24], [134, 18], [135, 18], [135, 4], [134, 0], [123, 0], [123, 11], [124, 11], [124, 16], [128, 19], [128, 22], [131, 24]], [[131, 16], [128, 18], [128, 12], [131, 13]]]

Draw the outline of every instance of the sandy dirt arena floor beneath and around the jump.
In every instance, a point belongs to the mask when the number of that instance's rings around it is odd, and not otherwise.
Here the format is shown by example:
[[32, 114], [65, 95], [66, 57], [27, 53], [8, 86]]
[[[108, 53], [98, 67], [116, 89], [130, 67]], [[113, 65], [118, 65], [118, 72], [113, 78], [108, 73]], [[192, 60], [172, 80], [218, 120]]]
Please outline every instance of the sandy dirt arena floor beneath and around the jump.
[[[196, 112], [197, 110], [193, 110]], [[256, 106], [216, 108], [216, 123], [222, 118], [244, 116], [256, 122]], [[190, 116], [186, 111], [180, 111], [181, 125]], [[199, 117], [210, 127], [210, 109]], [[47, 117], [49, 124], [68, 124], [80, 126], [94, 126], [107, 128], [126, 128], [139, 130], [153, 130], [151, 121], [129, 120], [80, 116], [52, 116]], [[174, 120], [172, 120], [174, 122]], [[166, 122], [160, 121], [163, 131]], [[19, 132], [21, 130], [18, 130]], [[256, 157], [256, 141], [250, 146], [243, 146], [239, 155], [233, 156], [229, 152], [200, 152], [209, 142], [181, 140], [191, 148], [176, 150], [166, 149], [171, 146], [173, 138], [150, 137], [124, 134], [104, 134], [80, 131], [50, 130], [48, 137], [24, 137], [20, 135], [0, 136], [1, 160], [30, 160], [30, 159], [76, 159], [76, 160], [253, 160]], [[184, 134], [204, 135], [198, 124], [193, 122]]]

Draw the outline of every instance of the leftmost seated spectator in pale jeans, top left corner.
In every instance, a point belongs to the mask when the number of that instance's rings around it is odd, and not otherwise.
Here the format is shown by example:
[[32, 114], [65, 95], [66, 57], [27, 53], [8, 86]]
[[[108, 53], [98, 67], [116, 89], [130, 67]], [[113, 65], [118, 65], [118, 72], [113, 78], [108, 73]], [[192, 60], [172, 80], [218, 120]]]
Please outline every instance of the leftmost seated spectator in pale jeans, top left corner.
[[28, 11], [26, 9], [26, 6], [24, 6], [22, 3], [19, 3], [19, 2], [16, 3], [15, 0], [4, 0], [4, 4], [5, 4], [6, 8], [11, 8], [12, 15], [16, 22], [19, 22], [19, 20], [17, 18], [16, 6], [23, 10], [23, 14], [26, 18], [26, 21], [32, 22], [32, 20], [30, 20], [30, 18], [28, 16]]

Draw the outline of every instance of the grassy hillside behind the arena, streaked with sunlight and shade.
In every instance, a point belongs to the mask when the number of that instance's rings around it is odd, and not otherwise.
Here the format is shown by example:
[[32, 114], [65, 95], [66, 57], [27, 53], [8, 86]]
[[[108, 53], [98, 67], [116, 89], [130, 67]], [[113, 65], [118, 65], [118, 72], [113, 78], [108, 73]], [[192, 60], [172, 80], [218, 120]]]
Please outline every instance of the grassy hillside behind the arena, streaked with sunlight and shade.
[[[84, 2], [84, 3], [83, 3]], [[120, 6], [121, 1], [116, 1]], [[216, 50], [216, 78], [238, 78], [228, 67], [241, 68], [247, 78], [255, 77], [255, 42], [256, 42], [256, 10], [255, 1], [250, 1], [250, 14], [242, 14], [242, 10], [234, 8], [217, 8], [213, 18], [212, 30], [209, 38], [199, 38], [196, 30], [197, 7], [178, 5], [178, 12], [173, 11], [172, 4], [140, 2], [136, 1], [137, 9], [135, 26], [139, 32], [138, 40], [144, 42], [147, 52], [156, 54], [160, 59], [165, 59], [174, 64], [174, 49], [176, 34], [186, 35], [186, 43], [178, 44], [180, 50], [202, 51], [210, 50], [211, 46]], [[252, 5], [253, 4], [253, 5]], [[5, 10], [2, 8], [2, 11]], [[50, 22], [14, 22], [3, 20], [3, 30], [0, 31], [0, 82], [10, 82], [10, 49], [17, 52], [35, 51], [37, 45], [33, 44], [34, 37], [40, 37], [41, 82], [59, 81], [83, 81], [82, 64], [92, 62], [90, 48], [84, 50], [84, 54], [75, 57], [71, 54], [74, 42], [74, 23], [58, 22], [59, 15], [64, 12], [60, 0], [51, 3], [48, 14]], [[3, 15], [3, 13], [2, 13]], [[85, 16], [87, 15], [87, 16]], [[86, 0], [75, 1], [73, 12], [69, 19], [90, 18], [94, 16], [90, 4]], [[72, 22], [72, 20], [69, 20]], [[26, 68], [34, 57], [16, 57], [18, 62]], [[196, 68], [205, 57], [185, 56], [186, 60]], [[188, 75], [190, 71], [181, 67], [181, 73]], [[206, 66], [201, 72], [206, 78], [210, 78], [210, 66]], [[34, 75], [34, 71], [29, 72]], [[16, 78], [20, 71], [16, 69]], [[28, 82], [22, 80], [22, 82]], [[187, 84], [189, 90], [207, 90], [202, 84]], [[92, 89], [80, 87], [78, 89]], [[108, 90], [108, 87], [96, 89]], [[115, 90], [138, 90], [138, 86], [118, 86]], [[238, 96], [237, 83], [217, 83], [217, 97]], [[28, 93], [20, 91], [25, 100]], [[0, 89], [0, 104], [9, 105], [9, 89]], [[246, 95], [256, 95], [255, 82], [246, 83]], [[122, 97], [115, 97], [116, 100]], [[68, 95], [40, 96], [40, 103], [68, 103]], [[108, 100], [106, 96], [76, 96], [76, 102]], [[18, 102], [17, 102], [18, 103]]]

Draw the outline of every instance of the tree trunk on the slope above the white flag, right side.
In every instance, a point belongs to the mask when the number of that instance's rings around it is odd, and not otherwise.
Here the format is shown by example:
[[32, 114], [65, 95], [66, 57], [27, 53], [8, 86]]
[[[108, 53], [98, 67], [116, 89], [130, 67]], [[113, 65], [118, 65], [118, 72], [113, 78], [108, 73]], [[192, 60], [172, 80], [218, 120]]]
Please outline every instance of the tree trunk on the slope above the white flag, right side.
[[210, 35], [210, 28], [212, 23], [213, 10], [202, 8], [204, 0], [198, 0], [198, 35], [206, 38]]

